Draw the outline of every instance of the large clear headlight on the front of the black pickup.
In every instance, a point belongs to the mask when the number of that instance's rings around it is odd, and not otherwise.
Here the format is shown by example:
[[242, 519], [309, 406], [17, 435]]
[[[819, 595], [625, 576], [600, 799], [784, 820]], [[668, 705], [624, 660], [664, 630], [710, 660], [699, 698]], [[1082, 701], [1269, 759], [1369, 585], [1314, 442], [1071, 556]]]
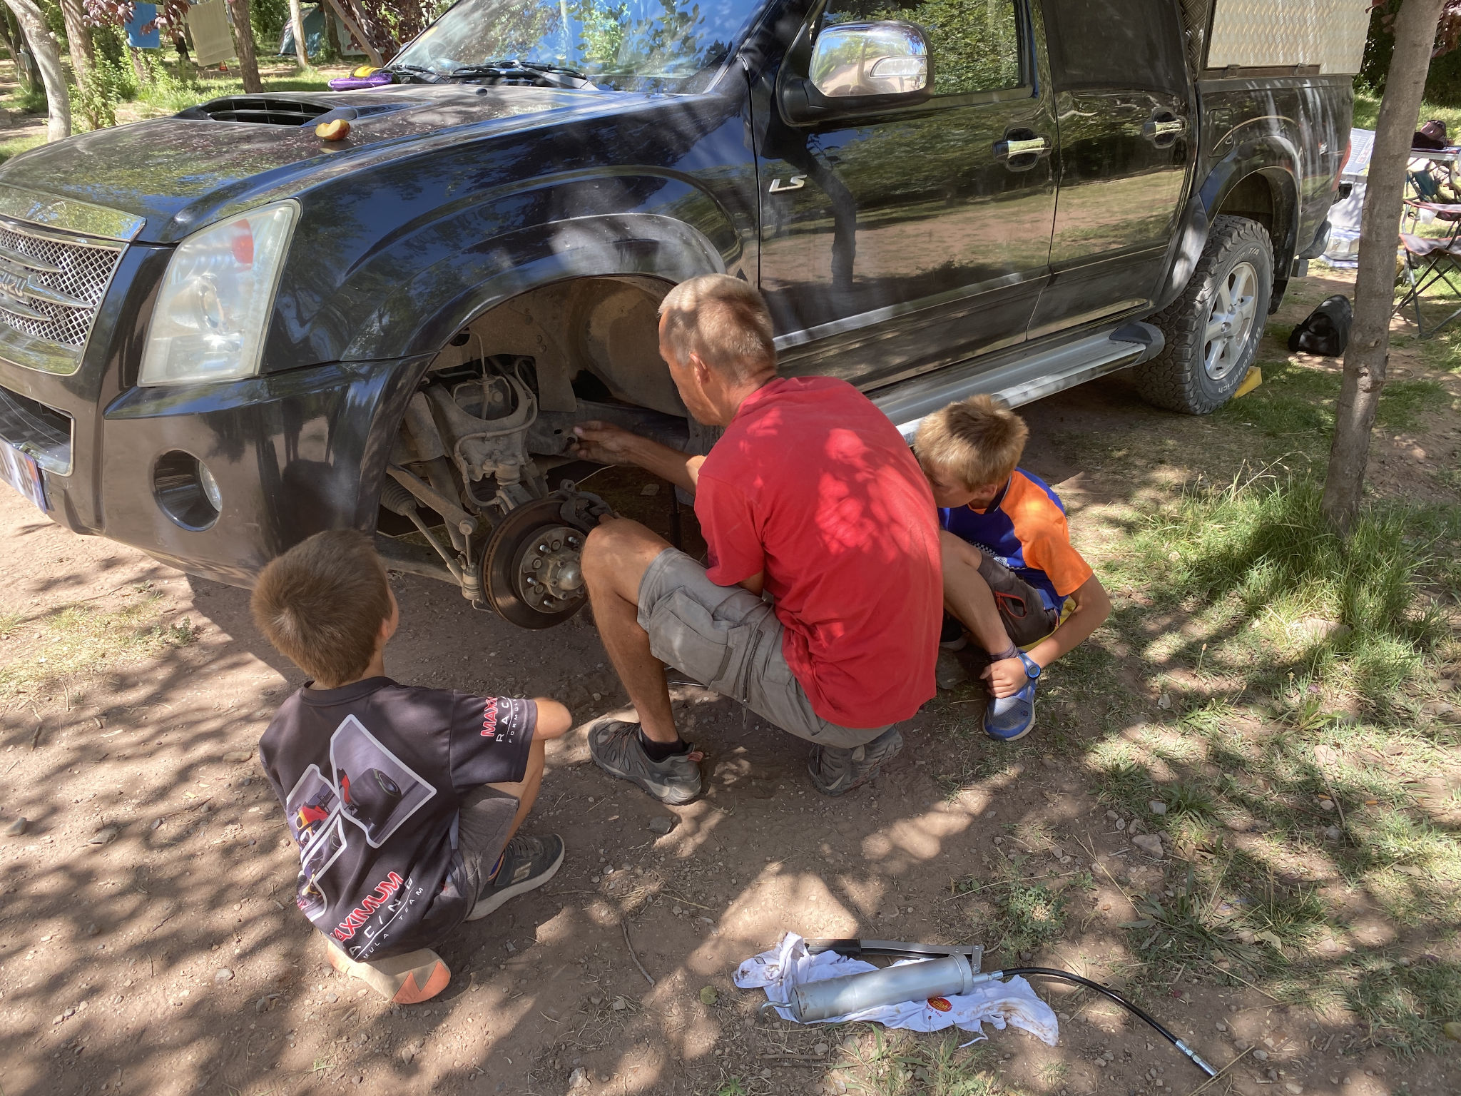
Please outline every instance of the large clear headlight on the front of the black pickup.
[[148, 327], [139, 384], [197, 384], [259, 373], [298, 213], [294, 202], [260, 206], [178, 244]]

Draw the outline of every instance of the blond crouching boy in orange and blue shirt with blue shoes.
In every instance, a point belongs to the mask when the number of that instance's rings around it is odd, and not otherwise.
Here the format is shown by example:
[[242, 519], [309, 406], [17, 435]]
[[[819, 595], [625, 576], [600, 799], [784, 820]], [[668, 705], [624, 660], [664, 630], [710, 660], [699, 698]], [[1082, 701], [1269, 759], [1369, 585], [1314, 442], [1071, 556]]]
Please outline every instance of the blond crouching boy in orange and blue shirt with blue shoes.
[[963, 647], [967, 631], [989, 655], [983, 729], [1004, 742], [1034, 726], [1040, 672], [1110, 615], [1059, 495], [1017, 466], [1029, 435], [1002, 402], [973, 396], [925, 418], [913, 440], [939, 507], [944, 608], [954, 617], [944, 647]]

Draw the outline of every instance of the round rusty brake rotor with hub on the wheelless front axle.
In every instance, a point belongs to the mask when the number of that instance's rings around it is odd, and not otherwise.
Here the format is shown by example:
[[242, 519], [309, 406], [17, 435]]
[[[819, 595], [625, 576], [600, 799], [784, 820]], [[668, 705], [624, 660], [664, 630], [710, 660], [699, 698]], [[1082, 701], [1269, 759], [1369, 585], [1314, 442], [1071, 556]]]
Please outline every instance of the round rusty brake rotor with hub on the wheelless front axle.
[[589, 522], [565, 519], [561, 498], [520, 506], [492, 530], [482, 552], [482, 589], [498, 615], [520, 628], [562, 624], [589, 601], [583, 542]]

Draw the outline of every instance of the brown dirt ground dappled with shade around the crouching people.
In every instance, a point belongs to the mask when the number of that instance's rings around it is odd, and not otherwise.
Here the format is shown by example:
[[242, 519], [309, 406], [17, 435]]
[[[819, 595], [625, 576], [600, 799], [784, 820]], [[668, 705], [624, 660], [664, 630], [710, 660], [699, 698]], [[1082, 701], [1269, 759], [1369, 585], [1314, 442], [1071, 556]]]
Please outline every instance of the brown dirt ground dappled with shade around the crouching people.
[[[1271, 330], [1286, 336], [1343, 281], [1297, 285]], [[1273, 336], [1265, 355], [1287, 359]], [[1461, 392], [1417, 348], [1397, 351], [1397, 365]], [[1271, 441], [1242, 421], [1156, 412], [1124, 376], [1026, 414], [1026, 465], [1062, 492], [1097, 570], [1124, 514], [1199, 472], [1230, 475]], [[1443, 475], [1457, 465], [1455, 425], [1438, 409], [1414, 430], [1381, 434], [1372, 481], [1455, 504]], [[1134, 437], [1150, 443], [1138, 468], [1115, 449]], [[668, 492], [641, 498], [655, 509]], [[1064, 699], [1042, 701], [1061, 713], [1061, 748], [1037, 732], [1008, 764], [1007, 747], [969, 732], [977, 694], [941, 694], [890, 770], [836, 801], [811, 789], [796, 739], [698, 688], [676, 694], [687, 738], [709, 753], [710, 791], [690, 807], [665, 808], [611, 780], [587, 761], [581, 734], [570, 735], [549, 751], [527, 823], [562, 834], [561, 872], [457, 931], [441, 950], [453, 972], [441, 997], [393, 1008], [330, 972], [292, 906], [297, 859], [256, 744], [302, 675], [254, 630], [247, 593], [75, 536], [4, 490], [0, 545], [0, 830], [26, 820], [23, 833], [0, 836], [4, 1096], [567, 1093], [580, 1070], [574, 1092], [624, 1095], [861, 1086], [1077, 1096], [1192, 1092], [1202, 1081], [1115, 1005], [1055, 983], [1036, 989], [1061, 1016], [1059, 1045], [986, 1029], [967, 1087], [931, 1080], [932, 1058], [880, 1065], [881, 1036], [868, 1026], [758, 1020], [760, 992], [730, 983], [741, 960], [787, 929], [980, 943], [986, 969], [1017, 964], [1015, 937], [979, 938], [967, 910], [979, 880], [993, 880], [991, 865], [1014, 848], [1024, 877], [1068, 897], [1062, 931], [1023, 954], [1093, 978], [1125, 969], [1134, 899], [1172, 896], [1188, 867], [1176, 848], [1159, 858], [1134, 846], [1150, 818], [1143, 826], [1099, 798], [1081, 760], [1163, 716], [1135, 656], [1118, 650], [1119, 687], [1143, 712], [1126, 726], [1087, 718], [1071, 678]], [[622, 703], [586, 614], [520, 631], [446, 586], [393, 583], [402, 627], [386, 662], [396, 678], [554, 696], [580, 720]], [[1452, 773], [1455, 754], [1452, 738]], [[652, 823], [665, 815], [675, 826], [657, 834]], [[1420, 940], [1362, 899], [1353, 896], [1337, 948], [1455, 960], [1454, 932]], [[1461, 1092], [1455, 1043], [1397, 1057], [1356, 1013], [1280, 998], [1211, 963], [1144, 983], [1143, 997], [1208, 1061], [1240, 1058], [1208, 1093]]]

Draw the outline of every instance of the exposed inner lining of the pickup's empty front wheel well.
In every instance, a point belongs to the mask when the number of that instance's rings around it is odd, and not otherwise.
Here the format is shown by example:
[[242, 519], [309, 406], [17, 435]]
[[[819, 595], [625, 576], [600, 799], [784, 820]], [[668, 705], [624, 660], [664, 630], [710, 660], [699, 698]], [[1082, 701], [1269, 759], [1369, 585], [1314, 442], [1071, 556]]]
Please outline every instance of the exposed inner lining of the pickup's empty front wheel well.
[[619, 400], [671, 415], [685, 406], [659, 357], [659, 302], [672, 283], [643, 275], [576, 278], [488, 308], [432, 359], [447, 370], [485, 355], [532, 358], [543, 411], [574, 411], [574, 380], [596, 377]]

